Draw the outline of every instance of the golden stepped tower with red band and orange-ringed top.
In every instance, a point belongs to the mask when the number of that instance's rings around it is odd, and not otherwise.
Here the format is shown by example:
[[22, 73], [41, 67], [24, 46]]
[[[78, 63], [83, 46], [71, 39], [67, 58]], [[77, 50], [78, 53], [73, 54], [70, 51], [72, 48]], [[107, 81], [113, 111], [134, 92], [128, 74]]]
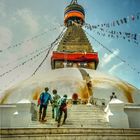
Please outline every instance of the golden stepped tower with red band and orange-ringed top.
[[72, 0], [64, 11], [64, 25], [67, 30], [57, 50], [52, 54], [52, 69], [64, 67], [97, 68], [98, 53], [94, 52], [82, 29], [84, 23], [84, 8], [77, 3], [77, 0]]

